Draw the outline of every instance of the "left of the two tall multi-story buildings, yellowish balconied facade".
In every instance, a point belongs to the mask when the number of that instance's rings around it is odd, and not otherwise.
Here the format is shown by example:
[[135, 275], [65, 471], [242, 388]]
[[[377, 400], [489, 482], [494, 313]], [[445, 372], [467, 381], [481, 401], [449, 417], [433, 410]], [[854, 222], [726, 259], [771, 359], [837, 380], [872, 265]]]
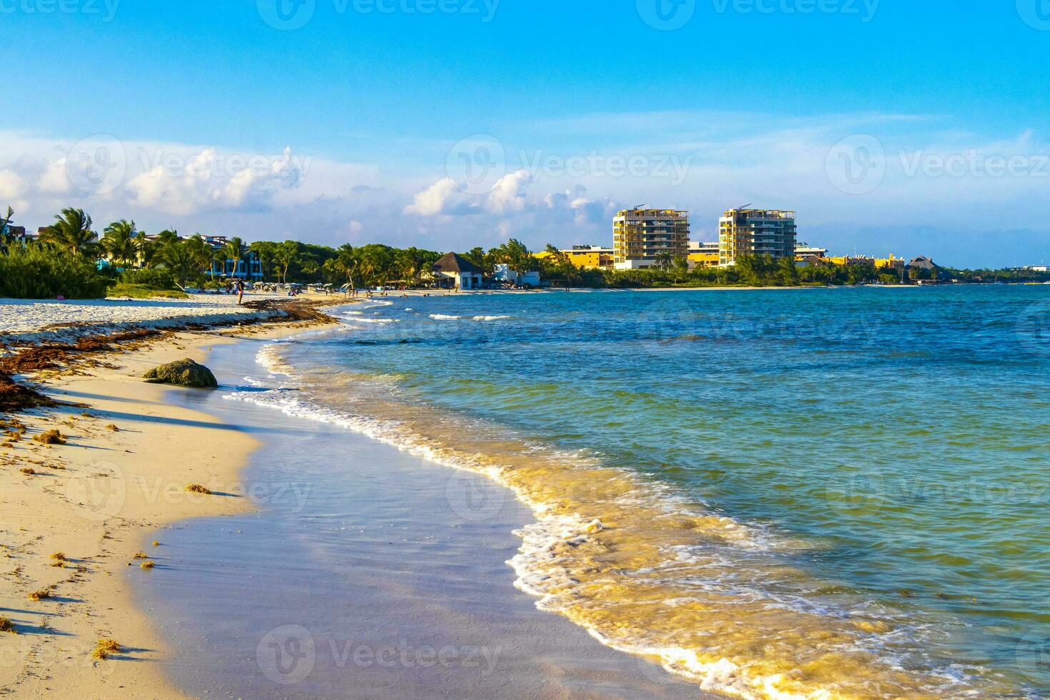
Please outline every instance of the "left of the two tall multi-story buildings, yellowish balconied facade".
[[625, 209], [612, 220], [616, 270], [655, 268], [669, 254], [689, 255], [689, 212], [674, 209]]

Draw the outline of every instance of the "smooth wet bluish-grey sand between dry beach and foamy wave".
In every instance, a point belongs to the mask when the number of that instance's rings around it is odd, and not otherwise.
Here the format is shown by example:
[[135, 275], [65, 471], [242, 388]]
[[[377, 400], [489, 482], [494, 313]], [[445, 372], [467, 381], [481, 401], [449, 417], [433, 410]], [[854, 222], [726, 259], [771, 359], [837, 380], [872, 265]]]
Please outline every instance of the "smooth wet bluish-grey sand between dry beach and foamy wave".
[[[216, 348], [219, 381], [266, 377], [258, 346]], [[514, 589], [512, 531], [531, 516], [509, 490], [220, 393], [168, 398], [262, 445], [242, 475], [256, 510], [146, 536], [164, 542], [163, 558], [135, 598], [186, 693], [704, 697]]]

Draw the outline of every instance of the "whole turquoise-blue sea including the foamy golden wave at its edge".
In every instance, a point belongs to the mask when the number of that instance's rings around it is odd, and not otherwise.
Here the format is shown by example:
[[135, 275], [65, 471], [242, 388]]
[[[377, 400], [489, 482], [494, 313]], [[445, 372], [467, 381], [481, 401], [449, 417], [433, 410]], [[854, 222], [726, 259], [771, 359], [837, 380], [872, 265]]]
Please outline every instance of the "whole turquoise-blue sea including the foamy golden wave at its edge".
[[298, 407], [518, 490], [520, 588], [611, 645], [748, 697], [1050, 692], [1050, 287], [340, 313], [267, 359]]

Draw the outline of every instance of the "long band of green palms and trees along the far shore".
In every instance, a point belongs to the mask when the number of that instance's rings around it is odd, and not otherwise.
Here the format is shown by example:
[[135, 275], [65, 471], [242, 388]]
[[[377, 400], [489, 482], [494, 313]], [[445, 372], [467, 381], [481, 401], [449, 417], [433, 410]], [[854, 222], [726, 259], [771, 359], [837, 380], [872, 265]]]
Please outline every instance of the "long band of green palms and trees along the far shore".
[[[7, 208], [3, 224], [13, 220]], [[834, 264], [823, 262], [799, 268], [794, 260], [770, 256], [741, 257], [733, 268], [690, 270], [686, 258], [664, 254], [649, 270], [593, 270], [575, 267], [569, 256], [553, 246], [536, 257], [525, 243], [510, 239], [496, 248], [474, 248], [463, 257], [491, 277], [497, 264], [517, 273], [539, 272], [553, 287], [574, 288], [699, 288], [699, 287], [797, 287], [842, 284], [899, 284], [920, 281], [958, 280], [969, 283], [1044, 282], [1050, 274], [1013, 270], [936, 271], [916, 268], [906, 273], [876, 269], [870, 262]], [[41, 235], [25, 246], [0, 240], [0, 296], [46, 299], [99, 298], [108, 294], [131, 298], [182, 297], [186, 287], [219, 289], [222, 282], [209, 274], [214, 268], [233, 269], [249, 256], [257, 256], [262, 281], [329, 283], [333, 287], [421, 287], [426, 273], [442, 253], [419, 248], [393, 248], [380, 243], [339, 248], [296, 240], [256, 241], [246, 245], [237, 237], [213, 250], [201, 234], [180, 237], [173, 230], [149, 239], [133, 220], [108, 225], [101, 239], [92, 231], [91, 217], [81, 209], [64, 209]], [[117, 267], [96, 269], [99, 256]], [[120, 271], [123, 269], [123, 271]]]

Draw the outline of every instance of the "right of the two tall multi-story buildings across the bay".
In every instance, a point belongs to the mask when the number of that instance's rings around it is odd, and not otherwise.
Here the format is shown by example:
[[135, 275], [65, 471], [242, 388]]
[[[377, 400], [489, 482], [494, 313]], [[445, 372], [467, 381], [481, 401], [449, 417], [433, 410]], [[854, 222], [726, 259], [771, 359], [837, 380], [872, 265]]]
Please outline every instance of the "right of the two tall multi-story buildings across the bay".
[[736, 264], [741, 255], [795, 257], [795, 212], [730, 209], [718, 224], [718, 264]]

